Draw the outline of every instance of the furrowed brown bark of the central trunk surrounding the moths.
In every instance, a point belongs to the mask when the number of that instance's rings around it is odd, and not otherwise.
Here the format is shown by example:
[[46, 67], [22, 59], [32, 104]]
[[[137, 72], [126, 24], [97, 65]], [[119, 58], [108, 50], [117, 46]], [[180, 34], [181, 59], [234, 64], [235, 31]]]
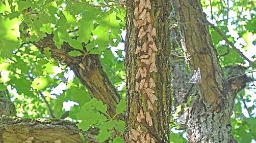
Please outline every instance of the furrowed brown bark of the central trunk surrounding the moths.
[[[140, 0], [141, 1], [141, 0]], [[153, 138], [156, 142], [169, 142], [169, 117], [171, 106], [171, 73], [170, 73], [170, 3], [169, 1], [150, 1], [151, 2], [151, 24], [156, 28], [156, 37], [153, 40], [156, 43], [158, 51], [156, 51], [156, 66], [157, 71], [150, 73], [148, 71], [148, 65], [140, 62], [139, 57], [145, 55], [149, 50], [147, 47], [146, 52], [135, 54], [137, 46], [142, 46], [143, 42], [147, 41], [147, 36], [141, 40], [138, 38], [140, 31], [139, 27], [134, 25], [133, 19], [135, 18], [135, 7], [139, 6], [139, 2], [134, 0], [126, 1], [126, 45], [125, 45], [125, 70], [126, 70], [126, 97], [127, 97], [127, 115], [126, 115], [126, 142], [140, 140], [143, 142], [145, 134], [149, 134], [150, 138]], [[144, 25], [146, 29], [148, 23]], [[150, 43], [150, 42], [149, 42]], [[151, 63], [152, 64], [152, 63]], [[137, 71], [139, 67], [146, 67], [147, 74], [145, 78], [142, 76], [136, 79]], [[148, 81], [148, 78], [152, 79], [156, 83], [155, 88], [151, 88], [155, 91], [155, 95], [158, 100], [152, 104], [153, 109], [148, 110], [148, 95], [145, 93], [144, 88], [136, 91], [136, 82], [141, 82], [142, 79]], [[144, 86], [145, 87], [145, 86]], [[150, 102], [150, 101], [149, 101]], [[146, 119], [141, 119], [138, 122], [137, 118], [146, 112], [152, 117], [152, 125], [150, 126]], [[134, 135], [133, 133], [138, 131], [140, 126], [140, 135]], [[130, 136], [129, 136], [130, 135]], [[132, 137], [134, 139], [132, 140]], [[138, 139], [137, 139], [138, 138]]]

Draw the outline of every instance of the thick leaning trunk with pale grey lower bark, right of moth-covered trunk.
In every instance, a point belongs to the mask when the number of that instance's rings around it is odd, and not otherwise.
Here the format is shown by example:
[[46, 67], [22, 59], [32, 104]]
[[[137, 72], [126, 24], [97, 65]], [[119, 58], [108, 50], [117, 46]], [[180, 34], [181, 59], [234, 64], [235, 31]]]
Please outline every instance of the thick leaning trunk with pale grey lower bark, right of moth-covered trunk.
[[[189, 142], [236, 142], [229, 119], [237, 92], [251, 79], [246, 76], [229, 80], [224, 78], [200, 1], [173, 0], [172, 6], [176, 21], [180, 23], [186, 61], [192, 71], [198, 68], [201, 71], [200, 83], [191, 90], [195, 92], [189, 93], [190, 86], [180, 91], [174, 86], [174, 99], [178, 99], [175, 96], [179, 93], [192, 96], [192, 102], [181, 118], [187, 128]], [[187, 77], [174, 80], [183, 80], [180, 83], [184, 83], [189, 81]]]

